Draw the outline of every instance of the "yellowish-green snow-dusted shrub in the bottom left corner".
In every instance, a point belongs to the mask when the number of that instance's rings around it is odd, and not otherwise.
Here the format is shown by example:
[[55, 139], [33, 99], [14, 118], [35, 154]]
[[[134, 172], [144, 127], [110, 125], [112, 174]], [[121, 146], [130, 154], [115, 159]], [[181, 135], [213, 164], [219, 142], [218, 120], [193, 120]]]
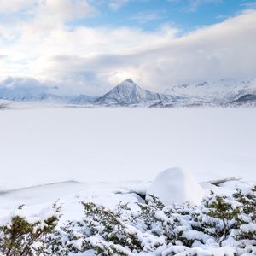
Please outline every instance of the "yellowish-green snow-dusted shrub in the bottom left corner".
[[5, 256], [67, 255], [55, 228], [61, 207], [27, 217], [20, 206], [0, 226], [0, 252]]

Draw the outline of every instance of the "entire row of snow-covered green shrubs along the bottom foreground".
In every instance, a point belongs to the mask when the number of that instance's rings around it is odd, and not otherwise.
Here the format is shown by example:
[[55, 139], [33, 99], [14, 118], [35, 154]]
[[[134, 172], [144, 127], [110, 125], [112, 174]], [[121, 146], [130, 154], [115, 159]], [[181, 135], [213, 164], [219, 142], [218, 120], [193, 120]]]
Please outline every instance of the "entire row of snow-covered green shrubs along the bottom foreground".
[[[61, 207], [27, 218], [22, 207], [0, 226], [0, 255], [68, 255], [94, 250], [97, 255], [218, 255], [256, 253], [256, 187], [233, 195], [211, 193], [201, 205], [164, 206], [154, 195], [133, 209], [110, 210], [83, 202], [84, 218], [58, 226]], [[227, 249], [229, 248], [229, 249]], [[228, 250], [228, 251], [227, 251]], [[2, 253], [2, 254], [1, 254]]]

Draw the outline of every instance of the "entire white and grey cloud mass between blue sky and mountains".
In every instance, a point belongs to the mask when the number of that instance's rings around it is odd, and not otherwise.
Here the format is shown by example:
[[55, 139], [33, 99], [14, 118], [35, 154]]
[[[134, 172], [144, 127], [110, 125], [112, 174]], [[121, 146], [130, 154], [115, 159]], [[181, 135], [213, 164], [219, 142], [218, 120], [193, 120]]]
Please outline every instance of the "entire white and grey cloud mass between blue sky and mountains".
[[31, 20], [0, 24], [0, 55], [8, 55], [0, 62], [2, 76], [32, 77], [67, 93], [100, 95], [129, 77], [161, 91], [172, 84], [256, 73], [256, 10], [177, 36], [172, 26], [155, 31], [68, 26], [65, 20], [73, 11], [61, 12], [53, 23], [40, 9]]

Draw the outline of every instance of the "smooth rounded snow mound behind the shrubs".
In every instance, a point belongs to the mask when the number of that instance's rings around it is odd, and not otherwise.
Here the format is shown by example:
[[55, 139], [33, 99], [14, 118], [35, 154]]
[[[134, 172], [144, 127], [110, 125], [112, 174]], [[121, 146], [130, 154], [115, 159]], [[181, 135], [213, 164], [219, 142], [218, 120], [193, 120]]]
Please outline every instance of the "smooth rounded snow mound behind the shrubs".
[[184, 172], [180, 168], [170, 168], [155, 177], [148, 188], [147, 195], [157, 196], [168, 206], [184, 202], [199, 204], [204, 192], [189, 172]]

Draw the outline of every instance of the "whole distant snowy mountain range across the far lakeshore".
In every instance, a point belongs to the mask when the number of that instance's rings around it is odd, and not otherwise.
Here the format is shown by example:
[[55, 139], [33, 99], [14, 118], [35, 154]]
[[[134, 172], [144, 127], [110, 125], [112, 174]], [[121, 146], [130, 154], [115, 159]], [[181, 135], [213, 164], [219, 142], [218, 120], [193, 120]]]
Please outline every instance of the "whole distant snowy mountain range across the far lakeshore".
[[222, 79], [218, 82], [180, 84], [165, 93], [145, 90], [132, 79], [126, 79], [103, 96], [60, 96], [58, 88], [1, 86], [0, 99], [11, 102], [51, 102], [85, 106], [127, 107], [191, 107], [191, 106], [254, 106], [256, 79]]

